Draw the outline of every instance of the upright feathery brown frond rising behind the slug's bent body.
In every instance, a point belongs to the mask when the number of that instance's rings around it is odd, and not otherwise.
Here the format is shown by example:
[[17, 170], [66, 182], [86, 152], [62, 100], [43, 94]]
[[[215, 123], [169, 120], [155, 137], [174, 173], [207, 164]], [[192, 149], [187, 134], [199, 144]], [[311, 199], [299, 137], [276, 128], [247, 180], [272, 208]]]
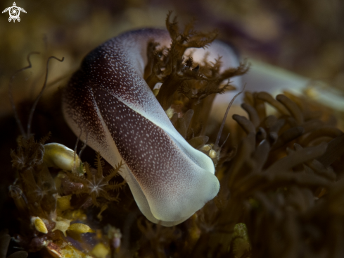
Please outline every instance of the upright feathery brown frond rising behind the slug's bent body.
[[160, 89], [153, 90], [158, 102], [165, 111], [171, 113], [172, 123], [179, 133], [186, 140], [197, 137], [191, 143], [202, 147], [207, 142], [203, 142], [203, 134], [208, 122], [209, 107], [216, 94], [235, 90], [229, 80], [223, 83], [224, 80], [243, 75], [249, 66], [245, 62], [237, 68], [220, 72], [221, 56], [212, 63], [207, 61], [207, 55], [202, 63], [194, 63], [191, 54], [186, 56], [186, 49], [208, 47], [217, 37], [217, 32], [193, 30], [194, 20], [181, 31], [177, 17], [172, 19], [172, 12], [167, 14], [166, 27], [172, 43], [169, 48], [159, 48], [158, 42], [149, 42], [144, 79], [151, 90], [158, 82], [162, 83]]

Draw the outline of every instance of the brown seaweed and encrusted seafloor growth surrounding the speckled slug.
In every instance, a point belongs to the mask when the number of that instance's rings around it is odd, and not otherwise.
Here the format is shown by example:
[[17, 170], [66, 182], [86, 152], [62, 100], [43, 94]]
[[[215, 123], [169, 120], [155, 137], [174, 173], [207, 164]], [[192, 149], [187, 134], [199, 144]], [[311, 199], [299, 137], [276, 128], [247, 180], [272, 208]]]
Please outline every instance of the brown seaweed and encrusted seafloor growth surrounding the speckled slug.
[[[176, 49], [183, 49], [181, 37], [192, 38], [192, 26], [179, 35], [177, 20], [170, 23], [170, 15], [167, 28]], [[208, 44], [213, 35], [205, 38]], [[151, 68], [146, 67], [145, 76], [164, 83], [167, 71], [172, 73], [172, 68], [163, 68], [164, 60], [172, 60], [168, 53], [173, 51], [157, 46], [148, 46]], [[126, 188], [118, 195], [125, 185], [115, 180], [122, 164], [111, 168], [96, 154], [93, 168], [75, 154], [69, 157], [77, 166], [54, 167], [47, 161], [56, 159], [44, 156], [48, 138], [37, 142], [22, 135], [11, 152], [16, 180], [8, 189], [20, 223], [18, 231], [11, 231], [11, 245], [32, 257], [343, 257], [344, 134], [331, 110], [287, 92], [276, 98], [245, 92], [242, 107], [248, 116], [233, 116], [237, 125], [227, 128], [231, 137], [219, 148], [215, 140], [207, 144], [218, 132], [204, 135], [203, 128], [212, 121], [202, 105], [223, 89], [223, 75], [199, 77], [207, 69], [217, 70], [219, 61], [201, 66], [189, 58], [183, 61], [180, 53], [175, 61], [186, 76], [196, 77], [172, 93], [163, 93], [162, 86], [157, 97], [162, 94], [160, 103], [174, 109], [171, 121], [179, 133], [216, 158], [221, 184], [217, 197], [184, 223], [165, 228], [140, 215]], [[241, 66], [233, 73], [245, 70]], [[192, 83], [210, 95], [193, 99], [187, 90], [196, 88]], [[6, 257], [8, 235], [1, 240]], [[21, 254], [26, 252], [11, 257]]]

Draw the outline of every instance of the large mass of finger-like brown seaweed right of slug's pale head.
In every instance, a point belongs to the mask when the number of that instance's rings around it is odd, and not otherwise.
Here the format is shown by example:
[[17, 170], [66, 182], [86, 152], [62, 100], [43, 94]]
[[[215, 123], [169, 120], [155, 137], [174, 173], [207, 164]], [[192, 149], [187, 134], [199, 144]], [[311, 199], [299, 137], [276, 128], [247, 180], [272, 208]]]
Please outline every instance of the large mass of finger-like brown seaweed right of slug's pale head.
[[248, 118], [233, 116], [238, 126], [217, 165], [217, 197], [174, 229], [183, 232], [177, 240], [140, 225], [140, 257], [344, 254], [344, 134], [331, 113], [266, 92], [246, 92], [242, 107]]

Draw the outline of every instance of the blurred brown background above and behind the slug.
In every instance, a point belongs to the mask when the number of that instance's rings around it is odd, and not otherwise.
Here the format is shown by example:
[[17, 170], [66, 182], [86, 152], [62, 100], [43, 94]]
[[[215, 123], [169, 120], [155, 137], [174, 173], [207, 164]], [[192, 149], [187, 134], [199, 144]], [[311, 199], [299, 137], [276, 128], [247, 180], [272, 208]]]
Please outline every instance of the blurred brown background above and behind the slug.
[[[202, 1], [22, 1], [20, 23], [1, 14], [0, 85], [6, 95], [8, 74], [22, 67], [29, 51], [65, 56], [58, 75], [79, 66], [88, 51], [120, 32], [138, 27], [164, 27], [168, 10], [181, 22], [195, 17], [198, 29], [219, 30], [243, 56], [255, 56], [307, 78], [344, 87], [343, 1], [202, 0]], [[1, 8], [12, 6], [1, 1]], [[2, 10], [2, 9], [1, 9]], [[39, 68], [37, 68], [39, 69]], [[32, 70], [33, 72], [34, 70]], [[28, 87], [25, 93], [34, 96]], [[16, 87], [18, 92], [23, 89]], [[27, 94], [25, 94], [27, 96]], [[1, 102], [1, 113], [9, 110]]]

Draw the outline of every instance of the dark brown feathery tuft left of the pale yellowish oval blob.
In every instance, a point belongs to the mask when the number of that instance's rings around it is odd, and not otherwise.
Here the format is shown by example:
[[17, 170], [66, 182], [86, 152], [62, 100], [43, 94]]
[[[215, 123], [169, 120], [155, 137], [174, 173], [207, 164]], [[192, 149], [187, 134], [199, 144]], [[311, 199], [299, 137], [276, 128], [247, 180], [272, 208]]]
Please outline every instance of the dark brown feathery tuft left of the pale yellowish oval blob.
[[34, 137], [18, 137], [18, 148], [11, 151], [12, 166], [17, 180], [10, 186], [10, 196], [15, 199], [18, 209], [30, 211], [33, 216], [49, 216], [56, 208], [56, 187], [46, 164], [43, 163], [44, 142]]

